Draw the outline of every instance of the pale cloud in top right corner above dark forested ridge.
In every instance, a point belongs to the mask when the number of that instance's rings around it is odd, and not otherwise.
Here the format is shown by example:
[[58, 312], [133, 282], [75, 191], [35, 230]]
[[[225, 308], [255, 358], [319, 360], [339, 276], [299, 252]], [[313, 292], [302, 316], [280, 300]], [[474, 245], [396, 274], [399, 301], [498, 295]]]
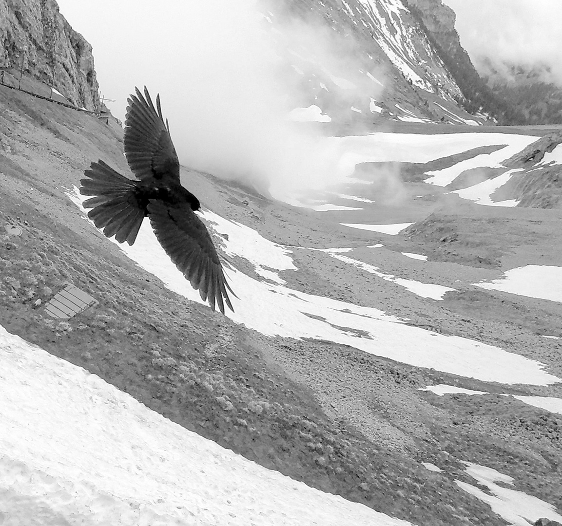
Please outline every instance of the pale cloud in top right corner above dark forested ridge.
[[546, 81], [562, 85], [560, 0], [443, 0], [456, 13], [455, 28], [475, 67], [483, 58], [550, 68]]

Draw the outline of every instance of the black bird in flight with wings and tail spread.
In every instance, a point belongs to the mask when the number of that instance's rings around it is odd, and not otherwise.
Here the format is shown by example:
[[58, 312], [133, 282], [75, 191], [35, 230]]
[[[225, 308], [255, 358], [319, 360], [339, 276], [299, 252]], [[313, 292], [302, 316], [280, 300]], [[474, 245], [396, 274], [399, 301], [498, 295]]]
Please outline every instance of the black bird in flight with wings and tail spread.
[[234, 312], [219, 255], [197, 214], [199, 200], [179, 179], [179, 159], [164, 122], [160, 95], [156, 108], [146, 86], [127, 102], [125, 156], [139, 181], [117, 173], [101, 159], [84, 171], [80, 193], [95, 197], [84, 201], [92, 208], [88, 217], [107, 237], [132, 245], [143, 219], [148, 216], [158, 241], [175, 266], [198, 289], [203, 301], [224, 314], [224, 302]]

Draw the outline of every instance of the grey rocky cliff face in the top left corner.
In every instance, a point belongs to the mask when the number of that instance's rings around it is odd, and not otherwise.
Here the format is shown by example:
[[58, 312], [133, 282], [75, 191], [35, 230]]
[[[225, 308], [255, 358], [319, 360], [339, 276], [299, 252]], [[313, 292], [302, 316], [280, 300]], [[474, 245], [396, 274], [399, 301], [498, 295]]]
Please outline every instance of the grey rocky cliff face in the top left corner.
[[78, 107], [99, 109], [92, 46], [76, 33], [55, 0], [0, 0], [0, 68], [51, 85]]

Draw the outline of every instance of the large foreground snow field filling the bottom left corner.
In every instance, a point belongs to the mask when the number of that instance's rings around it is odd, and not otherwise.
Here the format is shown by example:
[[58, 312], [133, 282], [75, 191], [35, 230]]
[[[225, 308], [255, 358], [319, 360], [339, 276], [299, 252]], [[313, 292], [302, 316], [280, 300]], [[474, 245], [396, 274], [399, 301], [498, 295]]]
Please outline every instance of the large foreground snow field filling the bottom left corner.
[[406, 526], [263, 468], [0, 326], [6, 526]]

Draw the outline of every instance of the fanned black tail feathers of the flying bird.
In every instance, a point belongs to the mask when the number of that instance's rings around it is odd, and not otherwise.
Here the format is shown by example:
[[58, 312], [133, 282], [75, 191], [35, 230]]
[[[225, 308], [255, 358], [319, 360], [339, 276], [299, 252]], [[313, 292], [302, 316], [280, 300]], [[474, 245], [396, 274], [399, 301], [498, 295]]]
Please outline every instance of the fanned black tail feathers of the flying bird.
[[145, 212], [135, 198], [135, 181], [103, 161], [92, 163], [84, 175], [88, 178], [80, 180], [80, 194], [94, 196], [83, 203], [84, 208], [92, 208], [88, 217], [107, 237], [115, 236], [119, 243], [132, 245]]

